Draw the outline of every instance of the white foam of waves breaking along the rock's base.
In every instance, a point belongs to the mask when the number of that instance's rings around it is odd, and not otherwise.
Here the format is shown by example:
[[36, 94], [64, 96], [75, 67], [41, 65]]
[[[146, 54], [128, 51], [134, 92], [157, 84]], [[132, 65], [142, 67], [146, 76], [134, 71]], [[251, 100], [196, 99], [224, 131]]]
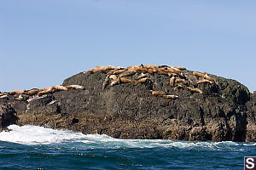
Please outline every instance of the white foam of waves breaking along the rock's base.
[[55, 130], [46, 127], [10, 125], [9, 132], [0, 133], [0, 140], [18, 144], [58, 144], [79, 142], [85, 148], [200, 148], [207, 150], [234, 149], [237, 145], [256, 145], [256, 143], [188, 142], [166, 139], [113, 139], [105, 134], [83, 134], [68, 130]]

